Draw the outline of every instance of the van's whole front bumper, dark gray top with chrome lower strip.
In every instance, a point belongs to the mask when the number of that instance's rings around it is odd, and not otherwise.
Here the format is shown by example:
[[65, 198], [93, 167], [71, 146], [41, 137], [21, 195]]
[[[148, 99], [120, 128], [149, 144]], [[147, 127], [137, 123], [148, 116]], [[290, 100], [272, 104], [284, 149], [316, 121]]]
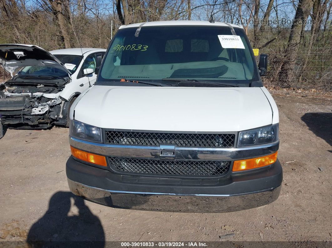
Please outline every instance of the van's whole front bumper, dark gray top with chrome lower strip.
[[[126, 176], [83, 164], [70, 157], [66, 174], [71, 192], [102, 205], [164, 212], [233, 212], [275, 201], [282, 167], [271, 166], [217, 180]], [[199, 183], [197, 183], [199, 181]]]

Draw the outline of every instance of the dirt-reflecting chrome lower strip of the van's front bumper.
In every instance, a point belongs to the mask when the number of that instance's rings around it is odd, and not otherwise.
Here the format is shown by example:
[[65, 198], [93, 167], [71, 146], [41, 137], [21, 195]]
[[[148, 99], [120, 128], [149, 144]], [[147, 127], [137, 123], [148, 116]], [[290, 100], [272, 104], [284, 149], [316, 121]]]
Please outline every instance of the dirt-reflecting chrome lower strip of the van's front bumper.
[[281, 190], [280, 185], [237, 195], [168, 194], [106, 190], [69, 178], [67, 180], [70, 191], [86, 200], [114, 208], [163, 212], [215, 213], [245, 210], [272, 203]]

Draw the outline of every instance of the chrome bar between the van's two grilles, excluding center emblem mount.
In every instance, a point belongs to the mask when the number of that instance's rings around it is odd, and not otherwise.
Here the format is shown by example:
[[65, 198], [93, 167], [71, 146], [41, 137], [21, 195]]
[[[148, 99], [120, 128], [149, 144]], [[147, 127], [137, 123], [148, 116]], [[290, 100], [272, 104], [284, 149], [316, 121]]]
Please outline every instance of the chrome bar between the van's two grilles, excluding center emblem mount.
[[[69, 136], [70, 145], [92, 153], [131, 158], [160, 158], [160, 146], [112, 145]], [[272, 144], [240, 148], [175, 147], [175, 159], [236, 160], [268, 155], [278, 151], [279, 140]]]

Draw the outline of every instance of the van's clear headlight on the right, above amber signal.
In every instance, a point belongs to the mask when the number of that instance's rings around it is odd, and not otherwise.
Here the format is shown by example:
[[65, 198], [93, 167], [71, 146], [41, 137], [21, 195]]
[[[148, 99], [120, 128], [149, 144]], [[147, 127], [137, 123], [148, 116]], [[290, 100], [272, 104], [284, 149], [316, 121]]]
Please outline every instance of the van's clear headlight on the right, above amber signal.
[[237, 146], [253, 146], [272, 143], [278, 140], [279, 124], [260, 127], [239, 133]]

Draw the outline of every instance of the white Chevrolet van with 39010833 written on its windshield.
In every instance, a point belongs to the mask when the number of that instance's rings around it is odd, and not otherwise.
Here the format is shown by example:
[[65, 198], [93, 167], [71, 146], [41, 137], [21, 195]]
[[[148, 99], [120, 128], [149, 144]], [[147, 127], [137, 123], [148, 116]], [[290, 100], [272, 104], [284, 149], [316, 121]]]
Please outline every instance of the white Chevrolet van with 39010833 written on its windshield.
[[275, 201], [279, 114], [241, 26], [121, 26], [70, 109], [70, 190], [110, 207], [231, 212]]

